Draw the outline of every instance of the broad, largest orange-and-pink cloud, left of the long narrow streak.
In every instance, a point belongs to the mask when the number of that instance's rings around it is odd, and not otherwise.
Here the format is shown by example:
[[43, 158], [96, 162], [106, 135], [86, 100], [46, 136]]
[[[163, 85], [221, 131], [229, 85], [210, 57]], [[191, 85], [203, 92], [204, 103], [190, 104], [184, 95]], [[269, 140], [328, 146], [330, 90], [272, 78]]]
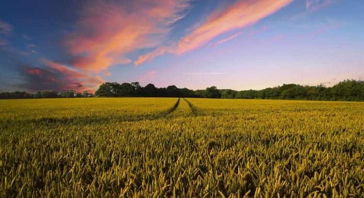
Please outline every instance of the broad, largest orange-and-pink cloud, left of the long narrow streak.
[[159, 46], [189, 6], [189, 0], [92, 1], [68, 35], [72, 65], [97, 72], [131, 62], [128, 53]]

